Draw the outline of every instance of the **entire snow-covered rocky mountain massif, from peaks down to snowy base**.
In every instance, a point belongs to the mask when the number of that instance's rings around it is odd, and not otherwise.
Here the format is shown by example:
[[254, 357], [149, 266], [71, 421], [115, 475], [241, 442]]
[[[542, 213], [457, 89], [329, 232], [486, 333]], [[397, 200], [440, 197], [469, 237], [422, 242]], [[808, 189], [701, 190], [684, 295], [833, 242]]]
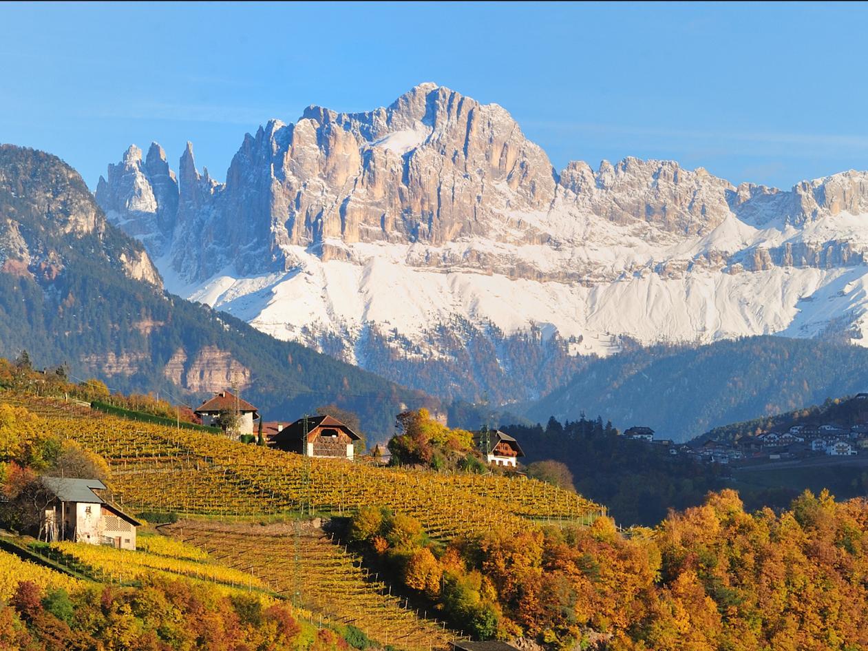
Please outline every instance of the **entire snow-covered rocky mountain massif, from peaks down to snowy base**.
[[[556, 337], [562, 360], [621, 336], [861, 342], [868, 327], [865, 172], [785, 191], [671, 161], [557, 171], [502, 107], [433, 83], [366, 113], [272, 120], [226, 183], [189, 143], [177, 178], [161, 151], [129, 149], [96, 198], [168, 288], [364, 368], [388, 366], [372, 339], [452, 363], [491, 326]], [[454, 318], [466, 339], [432, 345]]]

